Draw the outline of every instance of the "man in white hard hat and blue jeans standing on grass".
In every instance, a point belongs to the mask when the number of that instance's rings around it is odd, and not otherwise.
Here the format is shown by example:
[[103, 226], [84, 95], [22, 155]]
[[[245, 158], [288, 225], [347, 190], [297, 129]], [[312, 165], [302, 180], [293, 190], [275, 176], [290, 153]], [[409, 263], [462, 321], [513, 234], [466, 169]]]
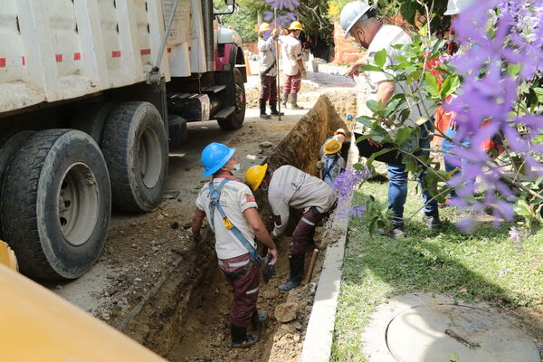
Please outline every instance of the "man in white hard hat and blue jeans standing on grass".
[[[393, 65], [398, 62], [396, 55], [401, 55], [401, 50], [395, 45], [412, 43], [411, 38], [402, 28], [395, 25], [383, 24], [376, 18], [376, 9], [374, 6], [369, 6], [362, 1], [354, 1], [348, 3], [341, 10], [339, 15], [341, 27], [345, 31], [345, 37], [353, 36], [357, 43], [367, 49], [367, 56], [355, 62], [348, 70], [348, 75], [357, 74], [360, 65], [367, 64], [367, 61], [373, 62], [376, 52], [383, 49], [386, 50], [386, 66]], [[385, 108], [388, 101], [393, 97], [396, 91], [395, 83], [388, 81], [387, 76], [381, 71], [368, 71], [369, 93], [368, 100], [375, 100], [381, 103], [381, 107]], [[397, 87], [399, 90], [399, 87]], [[433, 120], [428, 120], [424, 124], [417, 126], [414, 119], [418, 119], [424, 115], [417, 114], [417, 107], [411, 112], [408, 119], [405, 119], [403, 126], [416, 129], [413, 131], [411, 138], [406, 141], [406, 144], [417, 146], [419, 149], [430, 148], [432, 141], [431, 134], [433, 133]], [[373, 117], [373, 114], [367, 114]], [[394, 133], [394, 129], [390, 129], [389, 133]], [[355, 138], [362, 136], [362, 124], [357, 122], [354, 129]], [[380, 151], [388, 145], [383, 145], [372, 138], [367, 138], [361, 142], [357, 142], [357, 148], [360, 156], [371, 157], [372, 154]], [[417, 156], [427, 156], [427, 151], [416, 151]], [[388, 203], [394, 213], [393, 226], [390, 231], [384, 229], [377, 230], [378, 233], [389, 237], [404, 236], [404, 205], [407, 197], [407, 172], [405, 172], [405, 164], [402, 162], [403, 155], [396, 155], [394, 151], [387, 152], [384, 155], [376, 157], [376, 160], [386, 162], [388, 168]], [[424, 222], [431, 228], [437, 229], [441, 226], [439, 219], [437, 202], [432, 195], [424, 187], [425, 172], [419, 177], [421, 190], [423, 190], [424, 200]]]

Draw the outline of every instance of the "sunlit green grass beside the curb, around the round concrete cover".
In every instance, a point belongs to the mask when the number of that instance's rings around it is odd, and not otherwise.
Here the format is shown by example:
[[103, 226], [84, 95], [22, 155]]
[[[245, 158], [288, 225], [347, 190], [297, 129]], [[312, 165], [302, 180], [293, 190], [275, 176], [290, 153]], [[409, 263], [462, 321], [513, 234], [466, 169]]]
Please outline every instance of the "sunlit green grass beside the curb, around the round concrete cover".
[[[414, 185], [410, 186], [414, 190]], [[386, 184], [366, 183], [355, 195], [386, 200]], [[405, 215], [422, 205], [410, 192]], [[389, 239], [367, 232], [368, 218], [351, 220], [338, 299], [331, 361], [367, 361], [361, 347], [362, 329], [376, 306], [414, 291], [443, 292], [459, 301], [486, 300], [505, 308], [543, 303], [543, 230], [522, 243], [509, 240], [510, 224], [481, 224], [461, 233], [453, 223], [473, 215], [440, 211], [443, 228], [428, 230], [422, 215], [405, 225], [406, 237]]]

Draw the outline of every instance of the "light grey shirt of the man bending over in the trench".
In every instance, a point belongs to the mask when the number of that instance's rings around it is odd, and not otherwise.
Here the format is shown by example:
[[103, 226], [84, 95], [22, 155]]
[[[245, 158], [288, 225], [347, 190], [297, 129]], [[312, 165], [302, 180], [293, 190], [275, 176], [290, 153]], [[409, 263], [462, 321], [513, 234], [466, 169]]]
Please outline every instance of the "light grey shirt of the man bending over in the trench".
[[293, 166], [281, 166], [271, 176], [268, 189], [271, 211], [276, 218], [271, 234], [279, 236], [289, 224], [289, 207], [307, 212], [311, 206], [325, 213], [336, 203], [336, 193], [324, 181]]

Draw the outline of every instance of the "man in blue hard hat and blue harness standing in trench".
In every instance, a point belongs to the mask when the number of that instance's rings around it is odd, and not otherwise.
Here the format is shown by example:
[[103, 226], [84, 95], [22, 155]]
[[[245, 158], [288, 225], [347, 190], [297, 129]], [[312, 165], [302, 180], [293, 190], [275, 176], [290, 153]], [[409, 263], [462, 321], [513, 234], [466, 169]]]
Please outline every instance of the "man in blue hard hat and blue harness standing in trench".
[[219, 268], [233, 287], [232, 347], [248, 347], [259, 337], [247, 334], [252, 324], [262, 330], [268, 315], [256, 309], [260, 284], [260, 256], [256, 252], [254, 236], [268, 247], [270, 264], [277, 262], [277, 249], [270, 233], [262, 223], [258, 206], [249, 187], [233, 176], [240, 169], [235, 148], [211, 143], [202, 152], [204, 176], [213, 176], [196, 198], [192, 222], [195, 241], [202, 238], [200, 230], [207, 217], [215, 233], [215, 251]]

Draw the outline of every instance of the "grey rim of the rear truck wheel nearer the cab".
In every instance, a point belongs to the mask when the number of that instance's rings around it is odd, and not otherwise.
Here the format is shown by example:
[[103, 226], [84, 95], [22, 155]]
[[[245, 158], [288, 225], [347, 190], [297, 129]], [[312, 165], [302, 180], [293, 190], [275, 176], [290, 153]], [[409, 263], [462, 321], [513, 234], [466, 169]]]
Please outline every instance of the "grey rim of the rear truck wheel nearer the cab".
[[145, 129], [139, 139], [138, 161], [143, 185], [157, 186], [162, 170], [162, 148], [157, 133], [151, 128]]

